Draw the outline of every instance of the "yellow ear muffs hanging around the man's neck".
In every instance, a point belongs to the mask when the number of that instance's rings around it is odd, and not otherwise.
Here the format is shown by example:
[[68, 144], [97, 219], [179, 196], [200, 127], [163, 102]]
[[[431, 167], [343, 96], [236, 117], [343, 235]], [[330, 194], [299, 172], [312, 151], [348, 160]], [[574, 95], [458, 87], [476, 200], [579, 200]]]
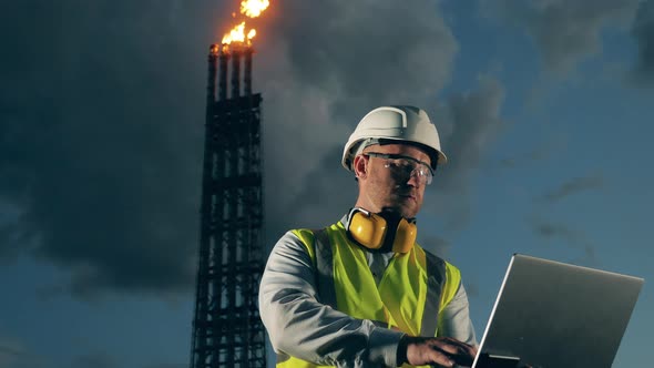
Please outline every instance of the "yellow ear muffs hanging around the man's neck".
[[[360, 245], [369, 249], [380, 249], [387, 242], [392, 241], [390, 247], [395, 253], [407, 253], [416, 243], [418, 228], [413, 222], [400, 218], [396, 228], [388, 228], [389, 223], [382, 215], [374, 214], [362, 208], [352, 208], [348, 216], [347, 232]], [[387, 239], [392, 234], [392, 239]]]

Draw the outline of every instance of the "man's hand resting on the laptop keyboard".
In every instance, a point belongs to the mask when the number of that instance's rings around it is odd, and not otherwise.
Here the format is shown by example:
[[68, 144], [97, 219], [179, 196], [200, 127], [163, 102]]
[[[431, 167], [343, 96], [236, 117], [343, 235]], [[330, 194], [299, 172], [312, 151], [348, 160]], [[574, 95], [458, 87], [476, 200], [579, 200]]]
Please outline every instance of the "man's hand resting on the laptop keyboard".
[[408, 362], [412, 366], [470, 367], [476, 355], [477, 349], [473, 346], [450, 337], [405, 336], [398, 346], [398, 365]]

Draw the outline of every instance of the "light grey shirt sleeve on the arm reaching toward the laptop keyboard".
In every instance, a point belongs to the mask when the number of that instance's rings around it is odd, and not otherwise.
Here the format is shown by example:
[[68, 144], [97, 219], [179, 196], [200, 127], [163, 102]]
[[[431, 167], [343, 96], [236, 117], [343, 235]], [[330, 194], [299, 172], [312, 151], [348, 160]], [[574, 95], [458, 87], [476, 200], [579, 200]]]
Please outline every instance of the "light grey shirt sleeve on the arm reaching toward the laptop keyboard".
[[403, 334], [321, 304], [315, 279], [304, 244], [286, 233], [273, 248], [259, 286], [259, 314], [275, 352], [317, 365], [397, 367]]

